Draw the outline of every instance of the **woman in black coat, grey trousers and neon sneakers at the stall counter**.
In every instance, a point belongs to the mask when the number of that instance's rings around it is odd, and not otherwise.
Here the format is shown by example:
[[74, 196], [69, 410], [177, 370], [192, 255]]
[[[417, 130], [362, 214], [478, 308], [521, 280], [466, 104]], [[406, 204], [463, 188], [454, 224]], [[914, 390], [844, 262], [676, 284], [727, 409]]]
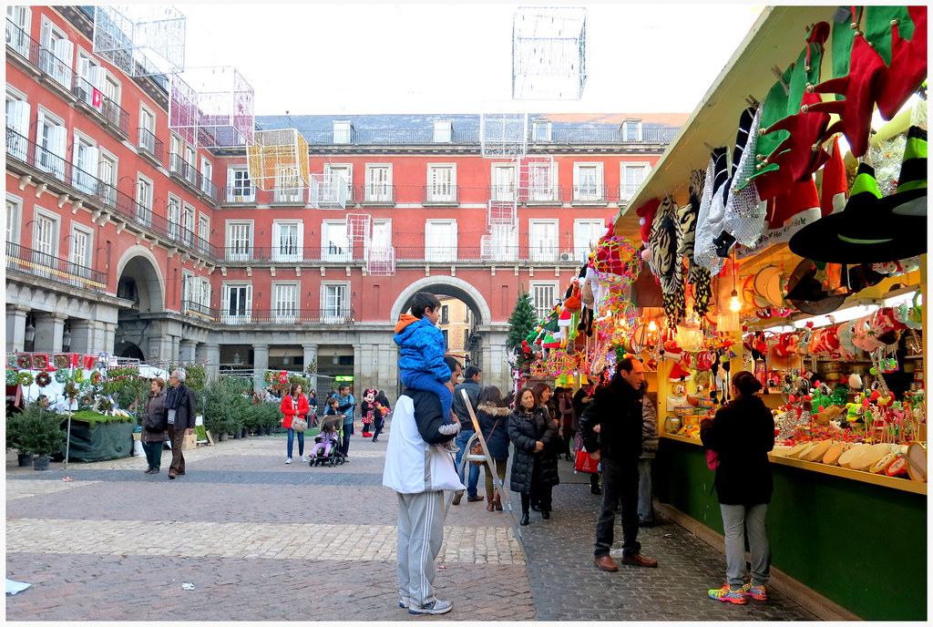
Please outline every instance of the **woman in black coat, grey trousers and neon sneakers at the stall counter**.
[[[765, 514], [773, 479], [768, 452], [774, 448], [774, 419], [751, 372], [732, 376], [732, 401], [700, 424], [703, 446], [717, 454], [716, 492], [726, 536], [726, 583], [709, 596], [742, 605], [745, 597], [768, 598], [771, 549]], [[751, 581], [745, 583], [745, 528], [751, 550]]]

